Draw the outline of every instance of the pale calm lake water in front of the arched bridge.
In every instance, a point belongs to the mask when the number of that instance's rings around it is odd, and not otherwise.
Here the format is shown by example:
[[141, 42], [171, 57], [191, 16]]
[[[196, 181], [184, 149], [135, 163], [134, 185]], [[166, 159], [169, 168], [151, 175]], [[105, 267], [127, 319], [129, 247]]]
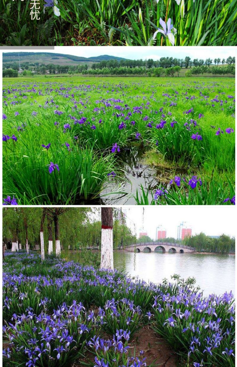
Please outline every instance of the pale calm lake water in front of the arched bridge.
[[222, 294], [235, 288], [235, 257], [233, 255], [160, 254], [157, 252], [114, 252], [114, 268], [125, 269], [131, 276], [160, 283], [164, 278], [180, 274], [195, 277], [204, 295]]

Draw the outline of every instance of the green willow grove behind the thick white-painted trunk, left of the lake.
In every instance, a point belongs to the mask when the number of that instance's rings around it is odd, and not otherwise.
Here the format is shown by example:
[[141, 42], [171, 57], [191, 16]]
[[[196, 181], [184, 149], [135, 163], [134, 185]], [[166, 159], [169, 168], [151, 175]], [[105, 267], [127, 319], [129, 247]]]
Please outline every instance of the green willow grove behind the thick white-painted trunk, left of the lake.
[[[14, 251], [19, 250], [19, 244], [22, 249], [43, 250], [43, 244], [44, 252], [56, 255], [69, 249], [101, 249], [102, 223], [98, 216], [99, 210], [91, 208], [4, 208], [3, 242], [9, 250], [15, 246]], [[135, 242], [123, 213], [114, 209], [113, 248]]]

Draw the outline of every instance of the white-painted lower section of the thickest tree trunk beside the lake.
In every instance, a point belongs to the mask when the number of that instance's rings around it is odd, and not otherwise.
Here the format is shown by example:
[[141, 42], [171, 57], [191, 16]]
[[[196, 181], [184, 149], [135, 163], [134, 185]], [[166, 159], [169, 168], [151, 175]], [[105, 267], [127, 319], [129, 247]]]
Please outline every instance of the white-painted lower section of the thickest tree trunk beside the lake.
[[114, 268], [113, 261], [113, 229], [101, 229], [101, 268]]

